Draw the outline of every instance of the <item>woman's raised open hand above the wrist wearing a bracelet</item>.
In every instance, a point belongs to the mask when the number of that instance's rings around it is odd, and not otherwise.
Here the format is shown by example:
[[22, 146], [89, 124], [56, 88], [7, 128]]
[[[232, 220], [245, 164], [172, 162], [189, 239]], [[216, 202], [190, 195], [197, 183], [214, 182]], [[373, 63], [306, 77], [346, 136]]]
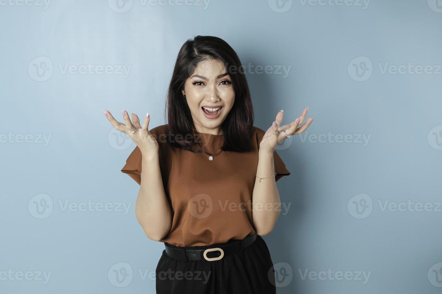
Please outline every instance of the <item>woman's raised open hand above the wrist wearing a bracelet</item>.
[[[261, 140], [261, 143], [259, 144], [259, 152], [268, 152], [273, 155], [276, 146], [284, 141], [287, 136], [301, 134], [302, 132], [304, 132], [313, 121], [313, 118], [310, 117], [309, 119], [307, 119], [306, 123], [301, 125], [301, 123], [304, 122], [308, 109], [309, 108], [306, 107], [301, 116], [295, 119], [292, 123], [289, 123], [288, 125], [284, 125], [282, 127], [280, 127], [279, 125], [281, 124], [282, 118], [284, 117], [284, 112], [282, 110], [279, 111], [272, 126], [268, 128], [263, 136], [263, 139]], [[284, 131], [286, 131], [287, 136], [286, 134], [284, 134]]]

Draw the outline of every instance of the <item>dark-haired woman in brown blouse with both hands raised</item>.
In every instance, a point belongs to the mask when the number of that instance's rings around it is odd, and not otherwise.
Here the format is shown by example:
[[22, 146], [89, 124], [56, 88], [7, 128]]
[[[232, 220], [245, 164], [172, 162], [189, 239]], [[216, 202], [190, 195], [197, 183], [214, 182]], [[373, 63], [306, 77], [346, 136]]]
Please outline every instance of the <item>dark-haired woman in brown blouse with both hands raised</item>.
[[[267, 131], [253, 126], [244, 70], [217, 37], [197, 36], [179, 51], [166, 113], [168, 124], [149, 130], [149, 113], [123, 111], [115, 129], [137, 147], [122, 172], [140, 191], [136, 216], [148, 238], [164, 242], [156, 293], [276, 293], [273, 263], [261, 236], [279, 216], [276, 181], [290, 175], [275, 147], [302, 133], [307, 108]], [[300, 126], [301, 125], [301, 126]]]

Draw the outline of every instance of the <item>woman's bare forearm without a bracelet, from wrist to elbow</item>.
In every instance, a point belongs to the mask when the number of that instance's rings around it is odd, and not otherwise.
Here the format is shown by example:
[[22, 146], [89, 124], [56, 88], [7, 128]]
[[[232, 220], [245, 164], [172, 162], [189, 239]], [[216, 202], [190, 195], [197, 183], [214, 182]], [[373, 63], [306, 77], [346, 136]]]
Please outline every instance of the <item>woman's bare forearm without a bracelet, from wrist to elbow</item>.
[[160, 241], [171, 228], [172, 213], [164, 192], [159, 157], [142, 157], [141, 170], [135, 214], [146, 236]]

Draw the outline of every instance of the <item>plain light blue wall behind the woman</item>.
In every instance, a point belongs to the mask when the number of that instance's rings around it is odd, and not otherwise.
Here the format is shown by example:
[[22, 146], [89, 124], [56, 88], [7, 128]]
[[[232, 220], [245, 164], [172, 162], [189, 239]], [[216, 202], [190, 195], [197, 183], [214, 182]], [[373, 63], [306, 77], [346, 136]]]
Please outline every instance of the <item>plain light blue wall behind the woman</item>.
[[[164, 124], [176, 55], [198, 34], [270, 66], [247, 73], [255, 126], [280, 109], [315, 118], [277, 149], [292, 172], [264, 237], [278, 293], [440, 293], [442, 2], [278, 1], [0, 1], [1, 293], [154, 293], [164, 245], [137, 223], [139, 186], [120, 172], [135, 145], [103, 109]], [[88, 63], [111, 73], [64, 71]], [[113, 206], [65, 208], [88, 201]]]

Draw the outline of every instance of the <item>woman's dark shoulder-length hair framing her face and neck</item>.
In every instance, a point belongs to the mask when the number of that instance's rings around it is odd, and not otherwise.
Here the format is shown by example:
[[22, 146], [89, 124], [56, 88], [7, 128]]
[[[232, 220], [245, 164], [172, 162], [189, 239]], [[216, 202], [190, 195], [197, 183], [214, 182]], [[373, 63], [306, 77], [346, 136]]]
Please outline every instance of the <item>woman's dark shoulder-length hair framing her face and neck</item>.
[[[224, 151], [249, 151], [252, 148], [250, 139], [254, 115], [244, 69], [233, 48], [221, 38], [211, 36], [196, 36], [193, 40], [189, 39], [179, 50], [165, 107], [169, 132], [175, 138], [169, 143], [192, 152], [201, 151], [194, 149], [194, 145], [197, 144], [193, 135], [194, 122], [182, 89], [197, 64], [207, 59], [219, 60], [225, 65], [235, 91], [233, 106], [220, 127], [224, 134], [224, 144], [220, 148]], [[176, 136], [177, 134], [179, 136]], [[188, 141], [186, 138], [192, 140]]]

